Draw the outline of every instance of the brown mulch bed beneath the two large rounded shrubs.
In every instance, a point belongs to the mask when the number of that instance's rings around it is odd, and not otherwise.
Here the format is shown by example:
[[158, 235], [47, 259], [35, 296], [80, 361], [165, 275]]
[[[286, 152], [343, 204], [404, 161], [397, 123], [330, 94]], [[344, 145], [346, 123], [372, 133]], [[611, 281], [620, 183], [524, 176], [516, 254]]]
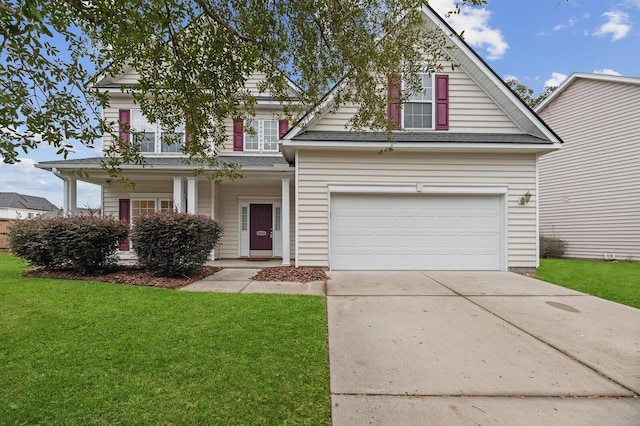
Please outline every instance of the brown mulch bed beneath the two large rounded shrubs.
[[73, 271], [45, 271], [43, 269], [30, 269], [22, 275], [33, 278], [60, 278], [70, 280], [100, 281], [107, 283], [140, 285], [146, 287], [161, 287], [178, 289], [193, 282], [213, 275], [223, 268], [205, 266], [203, 270], [193, 277], [164, 278], [155, 277], [149, 272], [135, 266], [120, 266], [118, 270], [105, 275], [82, 275]]

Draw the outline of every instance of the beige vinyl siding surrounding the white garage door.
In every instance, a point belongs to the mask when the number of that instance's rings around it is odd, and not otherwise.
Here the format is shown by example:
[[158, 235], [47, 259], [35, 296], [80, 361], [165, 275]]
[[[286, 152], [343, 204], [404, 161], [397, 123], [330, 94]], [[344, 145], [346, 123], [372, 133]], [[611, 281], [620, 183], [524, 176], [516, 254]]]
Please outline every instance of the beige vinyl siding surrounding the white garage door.
[[[391, 152], [298, 155], [298, 264], [329, 264], [329, 185], [507, 187], [508, 267], [535, 268], [536, 158], [533, 154], [411, 154]], [[372, 170], [375, 173], [372, 173]], [[528, 205], [518, 205], [527, 191]]]

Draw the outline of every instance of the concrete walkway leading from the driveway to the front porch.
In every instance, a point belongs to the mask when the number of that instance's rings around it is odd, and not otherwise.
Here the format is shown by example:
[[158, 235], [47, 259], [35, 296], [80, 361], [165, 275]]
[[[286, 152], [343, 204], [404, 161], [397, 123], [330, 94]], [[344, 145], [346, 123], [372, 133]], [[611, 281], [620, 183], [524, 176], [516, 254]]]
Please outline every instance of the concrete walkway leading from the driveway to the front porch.
[[260, 268], [225, 267], [201, 281], [183, 287], [183, 291], [215, 291], [225, 293], [279, 293], [324, 295], [325, 282], [292, 283], [284, 281], [254, 281]]

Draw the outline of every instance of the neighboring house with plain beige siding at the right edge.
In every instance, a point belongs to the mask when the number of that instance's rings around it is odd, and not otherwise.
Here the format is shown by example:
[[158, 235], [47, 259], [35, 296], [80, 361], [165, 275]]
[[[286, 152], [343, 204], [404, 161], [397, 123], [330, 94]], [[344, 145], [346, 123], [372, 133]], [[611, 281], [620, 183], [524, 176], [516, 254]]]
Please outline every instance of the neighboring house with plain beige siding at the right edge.
[[540, 232], [640, 261], [640, 78], [574, 73], [536, 111], [565, 142], [540, 159]]

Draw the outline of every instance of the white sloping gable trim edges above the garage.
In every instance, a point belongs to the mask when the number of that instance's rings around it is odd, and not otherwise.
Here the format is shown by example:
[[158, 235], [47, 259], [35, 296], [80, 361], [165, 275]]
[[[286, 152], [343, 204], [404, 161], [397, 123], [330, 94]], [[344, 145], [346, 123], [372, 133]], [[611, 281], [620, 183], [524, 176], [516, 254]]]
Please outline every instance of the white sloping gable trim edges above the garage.
[[[544, 139], [552, 143], [562, 143], [560, 137], [516, 95], [491, 67], [428, 5], [420, 8], [425, 17], [425, 27], [439, 29], [454, 47], [443, 47], [444, 52], [462, 69], [507, 115], [523, 133]], [[317, 121], [334, 103], [336, 92], [347, 85], [346, 77], [318, 103], [308, 114], [302, 117], [284, 136], [294, 139]]]

